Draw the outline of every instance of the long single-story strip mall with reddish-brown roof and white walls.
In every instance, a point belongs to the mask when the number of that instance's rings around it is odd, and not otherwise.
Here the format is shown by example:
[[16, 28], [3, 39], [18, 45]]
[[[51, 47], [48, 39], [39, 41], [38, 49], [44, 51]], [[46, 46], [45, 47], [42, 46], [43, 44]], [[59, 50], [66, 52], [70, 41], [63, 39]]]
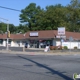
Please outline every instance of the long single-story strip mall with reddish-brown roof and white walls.
[[[6, 46], [6, 43], [7, 34], [0, 34], [0, 46]], [[24, 47], [28, 43], [28, 48], [45, 48], [49, 44], [80, 49], [80, 33], [65, 31], [65, 35], [59, 36], [57, 30], [29, 31], [25, 34], [11, 34], [8, 43], [10, 47]]]

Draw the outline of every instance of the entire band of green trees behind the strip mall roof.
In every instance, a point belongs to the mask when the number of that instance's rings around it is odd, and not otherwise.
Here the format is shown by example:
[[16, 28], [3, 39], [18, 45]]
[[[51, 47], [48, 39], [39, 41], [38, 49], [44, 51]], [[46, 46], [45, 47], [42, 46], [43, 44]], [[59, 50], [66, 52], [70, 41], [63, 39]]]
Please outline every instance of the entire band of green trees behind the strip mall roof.
[[[19, 26], [9, 24], [11, 33], [25, 33], [37, 30], [57, 30], [65, 27], [66, 31], [80, 32], [80, 1], [71, 0], [67, 6], [50, 5], [42, 9], [35, 3], [30, 3], [21, 10]], [[0, 33], [5, 33], [7, 24], [0, 23]]]

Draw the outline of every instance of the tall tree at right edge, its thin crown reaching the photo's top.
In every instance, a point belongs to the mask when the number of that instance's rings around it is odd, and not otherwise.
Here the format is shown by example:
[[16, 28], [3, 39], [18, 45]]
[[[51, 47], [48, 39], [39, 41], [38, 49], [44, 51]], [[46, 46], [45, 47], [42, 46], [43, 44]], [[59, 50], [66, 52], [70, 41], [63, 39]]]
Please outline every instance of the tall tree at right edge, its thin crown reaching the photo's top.
[[71, 0], [71, 3], [67, 6], [68, 9], [68, 23], [69, 23], [69, 31], [80, 30], [79, 25], [77, 23], [80, 21], [80, 2], [79, 0]]

